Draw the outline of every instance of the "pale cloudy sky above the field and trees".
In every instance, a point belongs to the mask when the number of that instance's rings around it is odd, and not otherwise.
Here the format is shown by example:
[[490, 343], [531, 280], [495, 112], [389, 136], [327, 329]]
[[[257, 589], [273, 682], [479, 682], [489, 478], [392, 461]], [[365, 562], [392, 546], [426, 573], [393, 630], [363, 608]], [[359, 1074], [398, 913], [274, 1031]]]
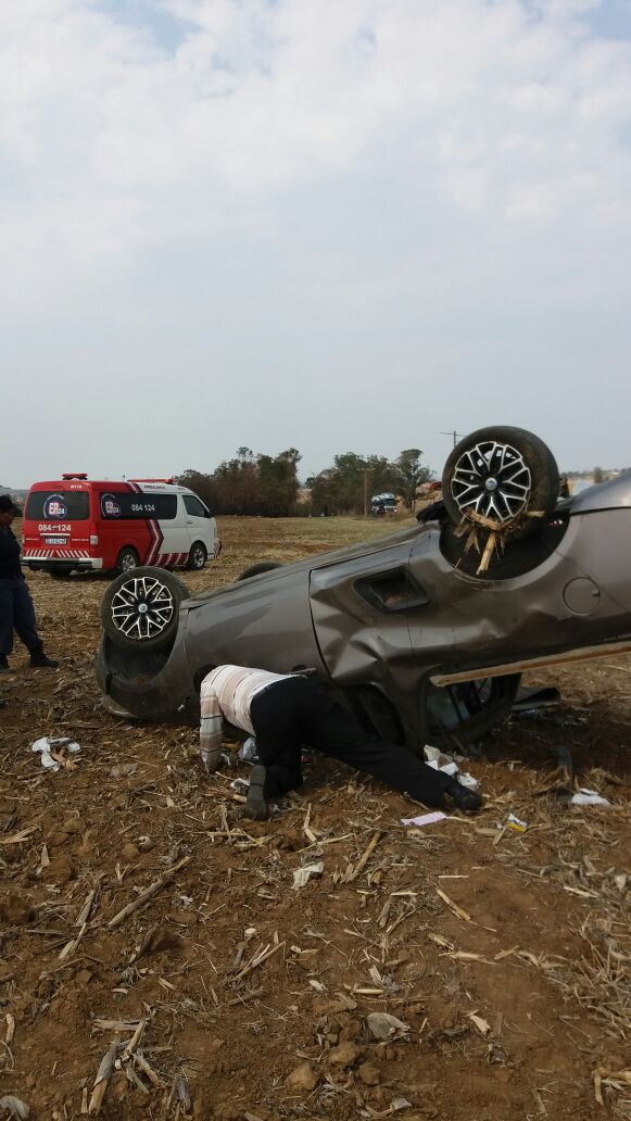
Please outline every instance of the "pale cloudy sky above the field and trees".
[[631, 3], [0, 9], [0, 480], [631, 465]]

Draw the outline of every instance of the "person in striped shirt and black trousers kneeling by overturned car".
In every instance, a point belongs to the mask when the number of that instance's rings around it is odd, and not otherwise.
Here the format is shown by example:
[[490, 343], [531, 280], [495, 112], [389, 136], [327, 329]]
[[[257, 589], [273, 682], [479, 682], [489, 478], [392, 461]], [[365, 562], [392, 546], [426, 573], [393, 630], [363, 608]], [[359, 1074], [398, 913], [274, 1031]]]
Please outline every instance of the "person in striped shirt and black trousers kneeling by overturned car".
[[304, 744], [372, 775], [416, 802], [475, 810], [479, 794], [428, 767], [400, 743], [371, 739], [333, 693], [313, 677], [270, 674], [244, 666], [217, 666], [201, 689], [199, 747], [207, 771], [220, 763], [222, 722], [256, 736], [260, 763], [252, 768], [245, 816], [265, 819], [269, 800], [303, 781]]

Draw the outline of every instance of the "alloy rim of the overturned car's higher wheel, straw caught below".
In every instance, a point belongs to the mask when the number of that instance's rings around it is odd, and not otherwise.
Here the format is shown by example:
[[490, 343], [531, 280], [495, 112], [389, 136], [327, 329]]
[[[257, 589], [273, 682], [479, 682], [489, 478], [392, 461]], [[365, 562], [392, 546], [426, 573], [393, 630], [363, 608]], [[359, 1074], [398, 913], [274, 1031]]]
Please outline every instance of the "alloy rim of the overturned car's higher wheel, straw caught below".
[[482, 441], [466, 448], [455, 464], [452, 495], [462, 515], [512, 521], [527, 508], [532, 488], [530, 469], [510, 444]]

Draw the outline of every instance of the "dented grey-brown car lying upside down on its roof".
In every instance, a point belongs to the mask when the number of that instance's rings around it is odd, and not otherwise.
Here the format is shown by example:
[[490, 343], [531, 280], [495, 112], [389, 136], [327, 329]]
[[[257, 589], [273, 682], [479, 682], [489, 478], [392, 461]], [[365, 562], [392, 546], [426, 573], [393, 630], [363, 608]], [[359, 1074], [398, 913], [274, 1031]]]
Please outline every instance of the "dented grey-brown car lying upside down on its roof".
[[454, 448], [443, 498], [424, 524], [214, 592], [122, 574], [102, 604], [106, 706], [194, 723], [213, 666], [310, 671], [419, 750], [483, 735], [526, 669], [631, 650], [631, 472], [559, 500], [546, 445], [492, 427]]

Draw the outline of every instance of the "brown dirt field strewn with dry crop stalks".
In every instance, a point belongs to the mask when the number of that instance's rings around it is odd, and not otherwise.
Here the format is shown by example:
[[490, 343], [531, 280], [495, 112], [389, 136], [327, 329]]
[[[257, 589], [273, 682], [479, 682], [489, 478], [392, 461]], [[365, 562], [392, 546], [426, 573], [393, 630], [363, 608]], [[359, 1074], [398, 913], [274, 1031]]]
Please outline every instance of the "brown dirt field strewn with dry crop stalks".
[[[216, 586], [391, 528], [226, 518], [220, 562], [185, 580]], [[405, 827], [417, 807], [314, 758], [278, 816], [240, 827], [226, 807], [247, 765], [205, 777], [194, 730], [103, 711], [105, 578], [29, 583], [61, 668], [30, 670], [18, 649], [0, 678], [0, 1106], [15, 1094], [36, 1121], [91, 1101], [117, 1119], [631, 1118], [630, 658], [533, 679], [562, 705], [467, 760], [475, 817]], [[43, 735], [81, 751], [45, 770]], [[610, 807], [550, 793], [558, 744]]]

